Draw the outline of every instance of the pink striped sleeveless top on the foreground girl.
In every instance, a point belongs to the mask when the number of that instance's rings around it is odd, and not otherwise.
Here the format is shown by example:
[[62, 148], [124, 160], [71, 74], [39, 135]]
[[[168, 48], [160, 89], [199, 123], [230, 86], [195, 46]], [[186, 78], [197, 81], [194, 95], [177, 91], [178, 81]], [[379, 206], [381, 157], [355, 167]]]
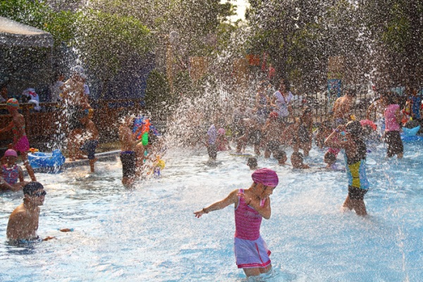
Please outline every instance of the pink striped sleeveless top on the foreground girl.
[[[244, 189], [240, 189], [243, 193]], [[266, 199], [260, 202], [264, 207]], [[260, 237], [260, 225], [262, 216], [255, 209], [245, 203], [242, 197], [238, 197], [238, 207], [235, 207], [235, 237], [244, 240], [257, 240]]]

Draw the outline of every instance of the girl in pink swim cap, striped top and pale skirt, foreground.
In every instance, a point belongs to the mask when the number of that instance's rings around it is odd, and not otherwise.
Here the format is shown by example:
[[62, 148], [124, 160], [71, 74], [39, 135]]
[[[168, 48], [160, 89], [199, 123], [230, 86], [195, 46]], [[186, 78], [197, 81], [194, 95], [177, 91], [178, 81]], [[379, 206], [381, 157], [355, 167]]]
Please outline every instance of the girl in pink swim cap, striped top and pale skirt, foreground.
[[262, 218], [270, 219], [270, 195], [278, 185], [278, 175], [269, 168], [252, 173], [248, 189], [234, 190], [225, 199], [194, 212], [195, 217], [235, 204], [235, 259], [246, 276], [258, 276], [271, 269], [270, 251], [260, 235]]

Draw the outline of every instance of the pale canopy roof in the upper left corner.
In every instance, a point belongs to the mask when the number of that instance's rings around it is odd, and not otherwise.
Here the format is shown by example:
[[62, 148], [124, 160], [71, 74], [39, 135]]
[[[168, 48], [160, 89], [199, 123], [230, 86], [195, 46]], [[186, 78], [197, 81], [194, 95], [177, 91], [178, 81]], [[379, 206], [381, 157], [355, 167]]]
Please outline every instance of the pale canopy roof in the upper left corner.
[[0, 47], [53, 47], [49, 32], [0, 17]]

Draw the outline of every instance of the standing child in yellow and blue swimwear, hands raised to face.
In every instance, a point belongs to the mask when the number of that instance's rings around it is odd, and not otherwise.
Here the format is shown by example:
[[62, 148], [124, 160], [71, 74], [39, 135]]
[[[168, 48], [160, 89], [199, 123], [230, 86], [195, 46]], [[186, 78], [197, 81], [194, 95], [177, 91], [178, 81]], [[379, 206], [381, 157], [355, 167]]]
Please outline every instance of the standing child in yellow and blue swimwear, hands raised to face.
[[366, 176], [366, 144], [361, 140], [362, 125], [360, 121], [350, 121], [338, 125], [326, 138], [324, 145], [345, 150], [345, 169], [348, 176], [348, 196], [343, 207], [354, 209], [357, 215], [367, 215], [364, 195], [369, 190]]

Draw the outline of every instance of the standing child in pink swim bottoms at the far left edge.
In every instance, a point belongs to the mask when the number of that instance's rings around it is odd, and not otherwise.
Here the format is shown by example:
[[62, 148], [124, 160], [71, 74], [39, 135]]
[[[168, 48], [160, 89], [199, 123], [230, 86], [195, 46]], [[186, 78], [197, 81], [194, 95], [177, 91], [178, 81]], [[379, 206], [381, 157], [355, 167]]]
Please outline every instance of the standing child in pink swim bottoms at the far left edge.
[[11, 144], [11, 148], [9, 149], [14, 149], [16, 152], [20, 152], [20, 157], [22, 157], [23, 165], [25, 166], [28, 175], [32, 181], [37, 181], [34, 170], [30, 165], [30, 161], [28, 161], [30, 142], [28, 142], [28, 138], [25, 133], [25, 118], [23, 118], [23, 115], [19, 114], [18, 109], [18, 100], [15, 98], [8, 99], [7, 110], [12, 116], [12, 121], [6, 126], [6, 128], [0, 129], [0, 133], [12, 130], [13, 142]]

